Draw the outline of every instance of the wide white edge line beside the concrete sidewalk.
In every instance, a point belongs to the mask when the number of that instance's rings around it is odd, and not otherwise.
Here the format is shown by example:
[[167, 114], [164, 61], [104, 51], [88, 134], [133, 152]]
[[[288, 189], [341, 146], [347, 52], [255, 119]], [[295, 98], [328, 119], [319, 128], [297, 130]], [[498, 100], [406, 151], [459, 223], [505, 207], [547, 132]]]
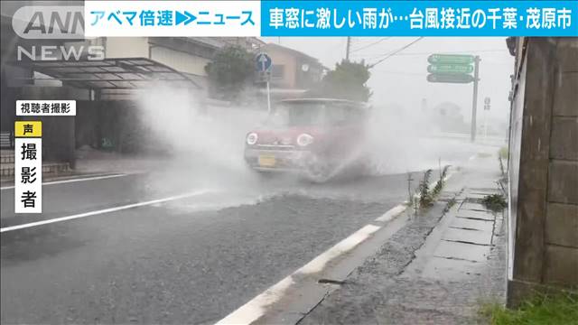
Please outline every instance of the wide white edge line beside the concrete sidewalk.
[[[395, 217], [396, 214], [394, 214], [393, 210], [398, 210], [397, 207], [399, 206], [389, 209], [385, 215], [391, 216], [389, 218]], [[401, 211], [397, 214], [399, 213], [401, 213]], [[239, 307], [236, 311], [231, 312], [224, 319], [219, 320], [217, 325], [250, 324], [251, 322], [258, 320], [266, 313], [266, 307], [279, 301], [283, 297], [284, 292], [294, 284], [294, 276], [322, 271], [323, 267], [332, 259], [349, 252], [383, 227], [385, 227], [385, 225], [375, 226], [368, 224], [367, 226], [360, 228], [358, 231], [351, 234], [350, 237], [341, 240], [335, 246], [332, 246], [330, 249], [323, 252], [322, 255], [313, 258], [312, 261], [303, 265], [293, 274], [287, 275], [283, 280], [275, 283], [275, 285], [269, 287], [266, 291], [260, 293], [255, 298]]]

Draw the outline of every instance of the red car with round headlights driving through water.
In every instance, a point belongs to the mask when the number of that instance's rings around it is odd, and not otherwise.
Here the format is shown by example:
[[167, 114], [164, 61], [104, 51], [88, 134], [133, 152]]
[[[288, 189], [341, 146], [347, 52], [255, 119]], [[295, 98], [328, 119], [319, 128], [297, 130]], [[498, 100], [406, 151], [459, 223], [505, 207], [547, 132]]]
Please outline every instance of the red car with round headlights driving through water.
[[368, 107], [343, 99], [302, 98], [279, 102], [266, 123], [249, 132], [245, 161], [259, 172], [298, 172], [327, 181], [355, 163]]

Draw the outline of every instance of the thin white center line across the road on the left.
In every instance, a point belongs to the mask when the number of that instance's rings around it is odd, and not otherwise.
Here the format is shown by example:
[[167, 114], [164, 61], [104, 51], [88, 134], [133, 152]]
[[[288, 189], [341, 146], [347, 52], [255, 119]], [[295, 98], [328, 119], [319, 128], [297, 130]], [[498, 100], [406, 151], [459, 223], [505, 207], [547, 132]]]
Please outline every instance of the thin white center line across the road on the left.
[[5, 227], [5, 228], [0, 228], [0, 233], [6, 232], [6, 231], [13, 231], [13, 230], [18, 230], [18, 229], [23, 229], [23, 228], [33, 228], [33, 227], [38, 227], [38, 226], [42, 226], [42, 225], [48, 225], [48, 224], [55, 223], [55, 222], [62, 222], [62, 221], [72, 220], [72, 219], [76, 219], [76, 218], [86, 218], [86, 217], [96, 216], [96, 215], [105, 214], [105, 213], [110, 213], [110, 212], [117, 212], [117, 211], [121, 211], [121, 210], [125, 210], [125, 209], [133, 209], [133, 208], [143, 207], [143, 206], [147, 206], [147, 205], [152, 205], [152, 204], [158, 204], [158, 203], [168, 202], [168, 201], [172, 201], [172, 200], [181, 200], [181, 199], [185, 199], [185, 198], [190, 198], [190, 197], [192, 197], [192, 196], [197, 196], [197, 195], [201, 195], [201, 194], [206, 194], [206, 193], [209, 193], [209, 192], [211, 192], [211, 190], [197, 190], [197, 191], [193, 191], [193, 192], [189, 192], [189, 193], [184, 193], [184, 194], [181, 194], [181, 195], [175, 195], [175, 196], [168, 197], [168, 198], [163, 198], [163, 199], [148, 200], [148, 201], [144, 201], [144, 202], [127, 204], [127, 205], [120, 206], [120, 207], [115, 207], [115, 208], [99, 209], [99, 210], [96, 210], [96, 211], [89, 211], [89, 212], [80, 213], [80, 214], [76, 214], [76, 215], [72, 215], [72, 216], [67, 216], [67, 217], [51, 218], [51, 219], [48, 219], [48, 220], [36, 221], [36, 222], [31, 222], [31, 223], [27, 223], [27, 224], [23, 224], [23, 225]]

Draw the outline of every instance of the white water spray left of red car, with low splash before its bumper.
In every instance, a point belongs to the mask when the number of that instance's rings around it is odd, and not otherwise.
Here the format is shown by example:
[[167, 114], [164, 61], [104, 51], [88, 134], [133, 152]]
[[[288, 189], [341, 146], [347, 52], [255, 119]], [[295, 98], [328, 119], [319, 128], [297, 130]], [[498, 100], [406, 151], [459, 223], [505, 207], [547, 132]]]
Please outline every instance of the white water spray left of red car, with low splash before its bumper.
[[255, 204], [294, 190], [294, 178], [264, 178], [245, 163], [246, 135], [266, 119], [266, 111], [206, 105], [203, 97], [186, 89], [156, 87], [138, 99], [141, 123], [171, 154], [163, 175], [154, 175], [147, 186], [217, 192], [191, 204], [195, 209]]

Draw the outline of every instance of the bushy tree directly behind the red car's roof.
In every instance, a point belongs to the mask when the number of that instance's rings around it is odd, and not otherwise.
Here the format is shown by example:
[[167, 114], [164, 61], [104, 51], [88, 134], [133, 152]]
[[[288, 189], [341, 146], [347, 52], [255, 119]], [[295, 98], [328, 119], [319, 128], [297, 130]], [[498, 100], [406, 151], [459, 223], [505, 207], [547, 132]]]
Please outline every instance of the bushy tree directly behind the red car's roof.
[[371, 90], [366, 86], [371, 73], [364, 60], [350, 62], [341, 60], [335, 70], [329, 71], [322, 79], [323, 96], [350, 100], [368, 101]]

